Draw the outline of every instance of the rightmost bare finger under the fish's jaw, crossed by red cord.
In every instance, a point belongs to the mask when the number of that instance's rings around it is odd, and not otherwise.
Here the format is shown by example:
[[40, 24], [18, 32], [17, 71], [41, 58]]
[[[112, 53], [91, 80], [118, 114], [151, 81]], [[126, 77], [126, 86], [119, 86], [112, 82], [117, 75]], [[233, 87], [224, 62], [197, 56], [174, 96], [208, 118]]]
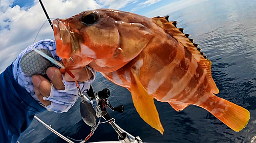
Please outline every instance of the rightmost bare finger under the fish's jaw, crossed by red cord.
[[[87, 81], [93, 76], [92, 72], [87, 67], [78, 68], [70, 71], [73, 73], [73, 75], [76, 77], [76, 80], [79, 82]], [[67, 72], [65, 73], [64, 78], [66, 81], [75, 81], [74, 78], [72, 78]]]

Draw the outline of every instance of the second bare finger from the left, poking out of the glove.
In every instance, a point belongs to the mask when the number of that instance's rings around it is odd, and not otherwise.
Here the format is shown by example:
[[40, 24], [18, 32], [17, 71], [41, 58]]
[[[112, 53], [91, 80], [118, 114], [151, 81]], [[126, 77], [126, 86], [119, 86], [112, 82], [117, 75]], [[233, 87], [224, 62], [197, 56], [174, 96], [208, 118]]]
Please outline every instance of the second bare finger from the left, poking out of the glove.
[[50, 67], [46, 71], [47, 76], [51, 80], [53, 86], [57, 90], [65, 90], [64, 83], [62, 82], [62, 74], [60, 73], [59, 69], [56, 67]]

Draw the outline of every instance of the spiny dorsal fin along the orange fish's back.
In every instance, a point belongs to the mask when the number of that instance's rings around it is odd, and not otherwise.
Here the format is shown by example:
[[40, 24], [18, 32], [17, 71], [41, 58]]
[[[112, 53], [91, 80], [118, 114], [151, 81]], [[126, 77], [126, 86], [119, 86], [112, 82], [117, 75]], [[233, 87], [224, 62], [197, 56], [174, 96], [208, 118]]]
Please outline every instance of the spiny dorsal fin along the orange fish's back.
[[200, 48], [198, 48], [198, 44], [193, 43], [193, 39], [188, 38], [189, 34], [183, 33], [183, 28], [177, 28], [177, 21], [168, 21], [169, 16], [164, 17], [154, 17], [152, 18], [154, 22], [163, 28], [166, 33], [170, 36], [174, 37], [178, 42], [180, 42], [183, 46], [185, 46], [192, 56], [197, 60], [197, 62], [201, 65], [203, 69], [206, 69], [206, 76], [208, 78], [210, 87], [212, 92], [215, 94], [219, 93], [219, 90], [214, 82], [214, 79], [211, 77], [211, 62], [206, 59], [206, 56], [203, 52], [201, 52]]

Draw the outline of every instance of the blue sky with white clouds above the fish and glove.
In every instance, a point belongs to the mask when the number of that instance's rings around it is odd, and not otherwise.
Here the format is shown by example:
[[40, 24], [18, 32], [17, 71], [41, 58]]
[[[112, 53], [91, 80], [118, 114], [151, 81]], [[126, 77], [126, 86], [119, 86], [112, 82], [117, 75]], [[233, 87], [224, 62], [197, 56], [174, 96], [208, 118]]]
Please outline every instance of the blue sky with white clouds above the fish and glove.
[[[99, 8], [155, 17], [205, 1], [208, 0], [42, 0], [42, 3], [50, 18], [68, 18]], [[38, 0], [0, 0], [0, 73], [34, 40], [54, 39], [49, 23], [44, 24], [46, 20]]]

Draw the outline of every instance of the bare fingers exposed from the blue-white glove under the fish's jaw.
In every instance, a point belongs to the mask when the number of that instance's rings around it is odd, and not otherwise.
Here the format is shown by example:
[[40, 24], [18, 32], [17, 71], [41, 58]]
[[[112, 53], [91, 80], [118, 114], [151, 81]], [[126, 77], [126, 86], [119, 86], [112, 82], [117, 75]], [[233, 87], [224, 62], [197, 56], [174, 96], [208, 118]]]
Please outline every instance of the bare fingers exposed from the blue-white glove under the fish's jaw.
[[[93, 76], [92, 72], [87, 68], [79, 68], [70, 71], [74, 74], [78, 82], [87, 81]], [[34, 84], [34, 92], [38, 100], [45, 106], [48, 106], [51, 104], [51, 101], [44, 100], [43, 98], [48, 98], [50, 96], [52, 85], [57, 90], [65, 90], [65, 85], [62, 82], [62, 74], [58, 68], [50, 67], [47, 69], [46, 74], [51, 82], [41, 75], [33, 75], [31, 80]], [[64, 75], [64, 79], [69, 82], [74, 81], [74, 79], [67, 72]]]

